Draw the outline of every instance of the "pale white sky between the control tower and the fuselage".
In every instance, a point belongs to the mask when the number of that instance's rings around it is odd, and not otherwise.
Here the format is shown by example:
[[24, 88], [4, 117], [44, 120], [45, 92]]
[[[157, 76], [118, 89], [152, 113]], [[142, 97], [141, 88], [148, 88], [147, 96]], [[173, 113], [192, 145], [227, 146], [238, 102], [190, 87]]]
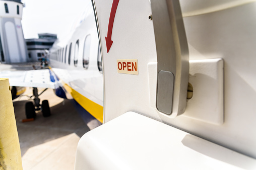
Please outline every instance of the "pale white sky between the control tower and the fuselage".
[[22, 28], [25, 39], [38, 33], [57, 34], [61, 38], [79, 22], [91, 0], [23, 0]]

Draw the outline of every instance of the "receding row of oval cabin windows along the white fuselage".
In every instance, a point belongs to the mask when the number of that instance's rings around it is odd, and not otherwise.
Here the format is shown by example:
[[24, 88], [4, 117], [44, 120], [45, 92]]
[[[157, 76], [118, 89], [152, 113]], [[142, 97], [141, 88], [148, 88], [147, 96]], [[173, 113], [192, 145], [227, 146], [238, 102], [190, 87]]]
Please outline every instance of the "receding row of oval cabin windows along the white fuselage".
[[[59, 62], [66, 63], [66, 56], [67, 56], [67, 49], [66, 48], [58, 49], [57, 51], [53, 52], [50, 55], [50, 58]], [[91, 36], [88, 35], [85, 38], [84, 43], [84, 51], [83, 51], [83, 67], [88, 69], [89, 67], [89, 58], [90, 58], [90, 49], [91, 49]], [[77, 40], [74, 48], [74, 66], [77, 67], [78, 65], [78, 52], [79, 52], [79, 40]], [[71, 54], [72, 54], [72, 43], [69, 46], [69, 55], [68, 55], [68, 63], [71, 64]], [[99, 71], [102, 71], [102, 62], [101, 62], [101, 54], [100, 54], [100, 47], [98, 48], [98, 68]]]

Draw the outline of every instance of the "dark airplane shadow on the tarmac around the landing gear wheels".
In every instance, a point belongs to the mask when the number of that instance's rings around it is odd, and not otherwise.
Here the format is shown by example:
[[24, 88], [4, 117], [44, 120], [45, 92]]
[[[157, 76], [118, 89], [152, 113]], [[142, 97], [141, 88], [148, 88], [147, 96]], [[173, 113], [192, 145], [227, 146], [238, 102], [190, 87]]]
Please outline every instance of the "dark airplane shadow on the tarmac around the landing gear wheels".
[[70, 100], [64, 100], [64, 105], [60, 102], [50, 107], [50, 117], [43, 117], [38, 112], [34, 121], [22, 123], [21, 120], [26, 118], [25, 103], [28, 101], [13, 102], [22, 156], [30, 147], [71, 133], [81, 137], [90, 130]]

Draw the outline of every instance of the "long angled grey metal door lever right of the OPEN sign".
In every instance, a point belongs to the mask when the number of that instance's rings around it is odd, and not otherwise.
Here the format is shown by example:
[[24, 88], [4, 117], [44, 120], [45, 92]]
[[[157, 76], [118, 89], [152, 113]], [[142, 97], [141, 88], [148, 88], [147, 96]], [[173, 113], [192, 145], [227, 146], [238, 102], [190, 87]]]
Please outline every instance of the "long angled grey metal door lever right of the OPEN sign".
[[176, 117], [185, 111], [189, 75], [186, 34], [177, 0], [151, 0], [157, 51], [158, 111]]

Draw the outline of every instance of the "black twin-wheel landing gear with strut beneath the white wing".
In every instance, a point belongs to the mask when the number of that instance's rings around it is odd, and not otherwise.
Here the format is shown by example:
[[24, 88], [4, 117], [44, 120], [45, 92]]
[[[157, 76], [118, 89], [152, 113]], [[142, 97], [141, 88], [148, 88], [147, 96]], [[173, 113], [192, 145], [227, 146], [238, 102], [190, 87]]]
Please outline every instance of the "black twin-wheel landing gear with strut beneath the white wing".
[[[26, 117], [27, 119], [35, 118], [36, 112], [42, 111], [44, 117], [49, 117], [51, 115], [50, 113], [50, 107], [48, 100], [43, 100], [42, 105], [40, 104], [39, 96], [47, 90], [44, 89], [39, 95], [38, 90], [36, 87], [33, 87], [33, 96], [34, 96], [34, 103], [33, 102], [27, 102], [25, 105], [25, 111], [26, 111]], [[31, 96], [31, 97], [33, 97]]]

